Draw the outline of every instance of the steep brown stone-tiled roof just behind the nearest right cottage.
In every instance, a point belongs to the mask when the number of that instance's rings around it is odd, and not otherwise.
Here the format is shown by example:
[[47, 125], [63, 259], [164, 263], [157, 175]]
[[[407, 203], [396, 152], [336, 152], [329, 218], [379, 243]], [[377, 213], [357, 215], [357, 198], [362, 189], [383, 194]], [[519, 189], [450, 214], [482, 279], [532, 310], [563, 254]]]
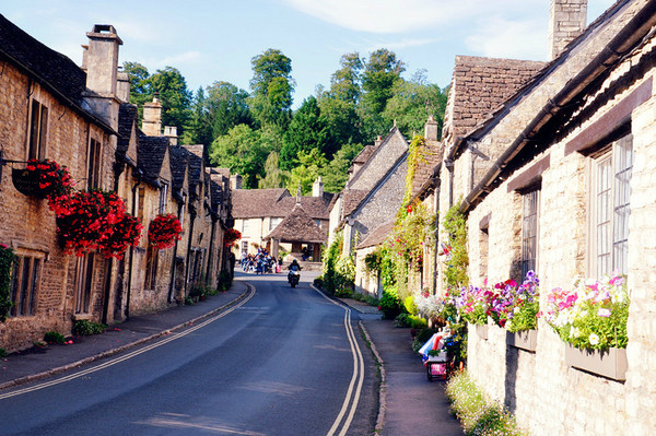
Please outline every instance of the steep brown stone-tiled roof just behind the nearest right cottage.
[[449, 91], [454, 101], [444, 125], [453, 129], [455, 138], [465, 135], [546, 64], [529, 60], [456, 56]]

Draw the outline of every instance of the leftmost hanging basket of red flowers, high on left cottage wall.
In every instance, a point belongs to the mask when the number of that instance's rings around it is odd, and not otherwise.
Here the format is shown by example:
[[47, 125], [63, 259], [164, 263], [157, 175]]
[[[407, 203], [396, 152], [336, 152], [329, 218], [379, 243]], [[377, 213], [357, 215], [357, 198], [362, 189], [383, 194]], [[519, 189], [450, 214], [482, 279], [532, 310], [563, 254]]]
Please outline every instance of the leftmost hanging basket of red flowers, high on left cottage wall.
[[25, 169], [13, 168], [11, 178], [19, 192], [48, 200], [66, 197], [73, 188], [73, 180], [66, 166], [49, 160], [30, 160]]

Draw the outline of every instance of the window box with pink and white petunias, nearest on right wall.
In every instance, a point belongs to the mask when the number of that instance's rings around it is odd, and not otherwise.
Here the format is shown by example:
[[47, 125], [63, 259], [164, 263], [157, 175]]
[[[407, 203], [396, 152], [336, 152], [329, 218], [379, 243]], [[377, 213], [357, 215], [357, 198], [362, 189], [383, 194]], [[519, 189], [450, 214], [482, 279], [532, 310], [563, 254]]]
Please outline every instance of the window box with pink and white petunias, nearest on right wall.
[[625, 379], [629, 304], [626, 280], [617, 274], [577, 280], [572, 291], [551, 292], [543, 316], [567, 344], [569, 366]]

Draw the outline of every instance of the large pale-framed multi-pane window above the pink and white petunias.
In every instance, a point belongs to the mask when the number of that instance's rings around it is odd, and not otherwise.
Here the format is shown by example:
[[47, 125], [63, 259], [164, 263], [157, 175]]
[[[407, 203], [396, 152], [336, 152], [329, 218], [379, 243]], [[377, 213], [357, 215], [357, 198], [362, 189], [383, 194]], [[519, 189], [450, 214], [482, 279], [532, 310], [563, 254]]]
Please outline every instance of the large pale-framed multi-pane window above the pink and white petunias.
[[620, 138], [593, 158], [591, 267], [597, 278], [628, 272], [632, 140], [631, 134]]

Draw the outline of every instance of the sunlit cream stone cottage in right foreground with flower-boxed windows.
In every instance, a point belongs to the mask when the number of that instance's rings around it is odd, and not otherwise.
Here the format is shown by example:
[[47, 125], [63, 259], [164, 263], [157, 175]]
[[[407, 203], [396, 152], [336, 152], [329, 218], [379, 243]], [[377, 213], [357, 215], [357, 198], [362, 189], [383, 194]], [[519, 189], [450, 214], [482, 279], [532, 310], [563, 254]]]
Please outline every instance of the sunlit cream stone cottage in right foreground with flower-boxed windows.
[[[543, 307], [550, 290], [571, 288], [575, 278], [628, 278], [625, 372], [582, 370], [540, 319], [529, 350], [493, 325], [487, 335], [470, 329], [468, 366], [479, 385], [535, 435], [648, 435], [656, 2], [618, 1], [587, 28], [585, 15], [585, 0], [553, 0], [553, 59], [475, 125], [459, 130], [449, 102], [434, 192], [440, 210], [459, 202], [467, 216], [472, 284], [522, 280], [532, 269]], [[454, 83], [462, 72], [456, 66]]]

